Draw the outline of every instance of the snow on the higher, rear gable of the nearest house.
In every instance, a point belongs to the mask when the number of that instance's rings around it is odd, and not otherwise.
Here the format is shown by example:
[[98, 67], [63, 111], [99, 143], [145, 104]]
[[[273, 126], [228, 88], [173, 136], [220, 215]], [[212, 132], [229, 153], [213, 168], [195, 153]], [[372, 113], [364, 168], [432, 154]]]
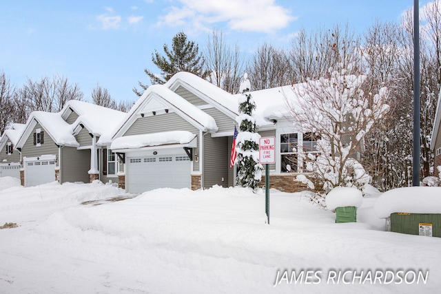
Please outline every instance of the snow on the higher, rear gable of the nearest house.
[[197, 92], [203, 94], [205, 98], [209, 98], [214, 103], [225, 107], [233, 114], [238, 114], [237, 99], [235, 99], [232, 94], [220, 89], [220, 87], [217, 87], [209, 81], [189, 72], [178, 72], [164, 85], [170, 88], [175, 85], [176, 82], [189, 85]]

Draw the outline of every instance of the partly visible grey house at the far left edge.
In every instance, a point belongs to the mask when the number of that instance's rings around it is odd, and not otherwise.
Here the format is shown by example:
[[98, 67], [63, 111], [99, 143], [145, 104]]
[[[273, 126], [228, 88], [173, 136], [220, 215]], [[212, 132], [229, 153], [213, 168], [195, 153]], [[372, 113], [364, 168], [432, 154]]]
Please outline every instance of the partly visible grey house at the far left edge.
[[21, 123], [14, 123], [0, 138], [0, 176], [20, 178], [21, 154], [14, 148], [24, 127]]

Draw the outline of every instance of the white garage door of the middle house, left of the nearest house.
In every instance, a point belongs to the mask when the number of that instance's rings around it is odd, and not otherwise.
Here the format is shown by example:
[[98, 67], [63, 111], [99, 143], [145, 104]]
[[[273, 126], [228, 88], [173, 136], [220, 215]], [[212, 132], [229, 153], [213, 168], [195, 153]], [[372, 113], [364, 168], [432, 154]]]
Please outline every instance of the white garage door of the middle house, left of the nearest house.
[[25, 187], [32, 187], [55, 180], [55, 156], [53, 158], [24, 159]]

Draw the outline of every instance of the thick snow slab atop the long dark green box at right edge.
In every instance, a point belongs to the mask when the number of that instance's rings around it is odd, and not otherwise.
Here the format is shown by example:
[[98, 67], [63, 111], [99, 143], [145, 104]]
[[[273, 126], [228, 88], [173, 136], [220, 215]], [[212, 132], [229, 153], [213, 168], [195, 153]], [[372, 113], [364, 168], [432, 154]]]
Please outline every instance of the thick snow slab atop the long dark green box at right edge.
[[404, 187], [386, 191], [373, 209], [378, 218], [391, 213], [441, 213], [441, 187]]

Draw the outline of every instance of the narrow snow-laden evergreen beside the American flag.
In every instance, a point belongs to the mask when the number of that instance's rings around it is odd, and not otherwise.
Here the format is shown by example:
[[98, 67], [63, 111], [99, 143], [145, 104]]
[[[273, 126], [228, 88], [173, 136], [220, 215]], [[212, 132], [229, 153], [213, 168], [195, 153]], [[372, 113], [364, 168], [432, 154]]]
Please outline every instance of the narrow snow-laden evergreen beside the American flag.
[[243, 76], [239, 91], [242, 95], [239, 98], [239, 116], [236, 118], [239, 124], [239, 134], [236, 138], [238, 151], [237, 158], [237, 178], [236, 184], [242, 187], [258, 189], [262, 178], [263, 167], [258, 162], [258, 141], [260, 135], [256, 133], [256, 120], [253, 111], [256, 103], [249, 93], [251, 83], [247, 74]]

